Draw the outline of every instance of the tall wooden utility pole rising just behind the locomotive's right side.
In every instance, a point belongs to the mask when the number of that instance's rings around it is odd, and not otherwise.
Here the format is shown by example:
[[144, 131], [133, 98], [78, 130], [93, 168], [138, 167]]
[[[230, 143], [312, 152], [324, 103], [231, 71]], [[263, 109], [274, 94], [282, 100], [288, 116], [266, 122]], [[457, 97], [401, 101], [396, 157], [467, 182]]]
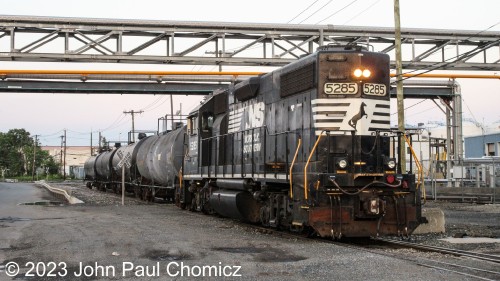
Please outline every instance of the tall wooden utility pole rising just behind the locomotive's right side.
[[[401, 20], [399, 13], [399, 0], [394, 0], [394, 32], [396, 46], [396, 99], [398, 105], [398, 131], [402, 134], [405, 132], [405, 112], [404, 112], [404, 96], [403, 96], [403, 63], [401, 55]], [[400, 171], [406, 171], [406, 145], [403, 137], [399, 138], [399, 154], [401, 162]]]

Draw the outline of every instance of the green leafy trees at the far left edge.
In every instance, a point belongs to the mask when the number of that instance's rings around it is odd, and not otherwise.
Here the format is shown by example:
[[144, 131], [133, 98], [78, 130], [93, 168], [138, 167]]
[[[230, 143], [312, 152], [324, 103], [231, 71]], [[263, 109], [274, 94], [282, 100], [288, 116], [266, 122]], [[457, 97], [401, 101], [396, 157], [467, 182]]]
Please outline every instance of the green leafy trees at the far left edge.
[[[8, 169], [6, 175], [19, 177], [31, 175], [35, 140], [25, 129], [11, 129], [0, 132], [0, 169]], [[36, 144], [35, 169], [49, 168], [49, 173], [58, 171], [58, 165], [47, 151]]]

